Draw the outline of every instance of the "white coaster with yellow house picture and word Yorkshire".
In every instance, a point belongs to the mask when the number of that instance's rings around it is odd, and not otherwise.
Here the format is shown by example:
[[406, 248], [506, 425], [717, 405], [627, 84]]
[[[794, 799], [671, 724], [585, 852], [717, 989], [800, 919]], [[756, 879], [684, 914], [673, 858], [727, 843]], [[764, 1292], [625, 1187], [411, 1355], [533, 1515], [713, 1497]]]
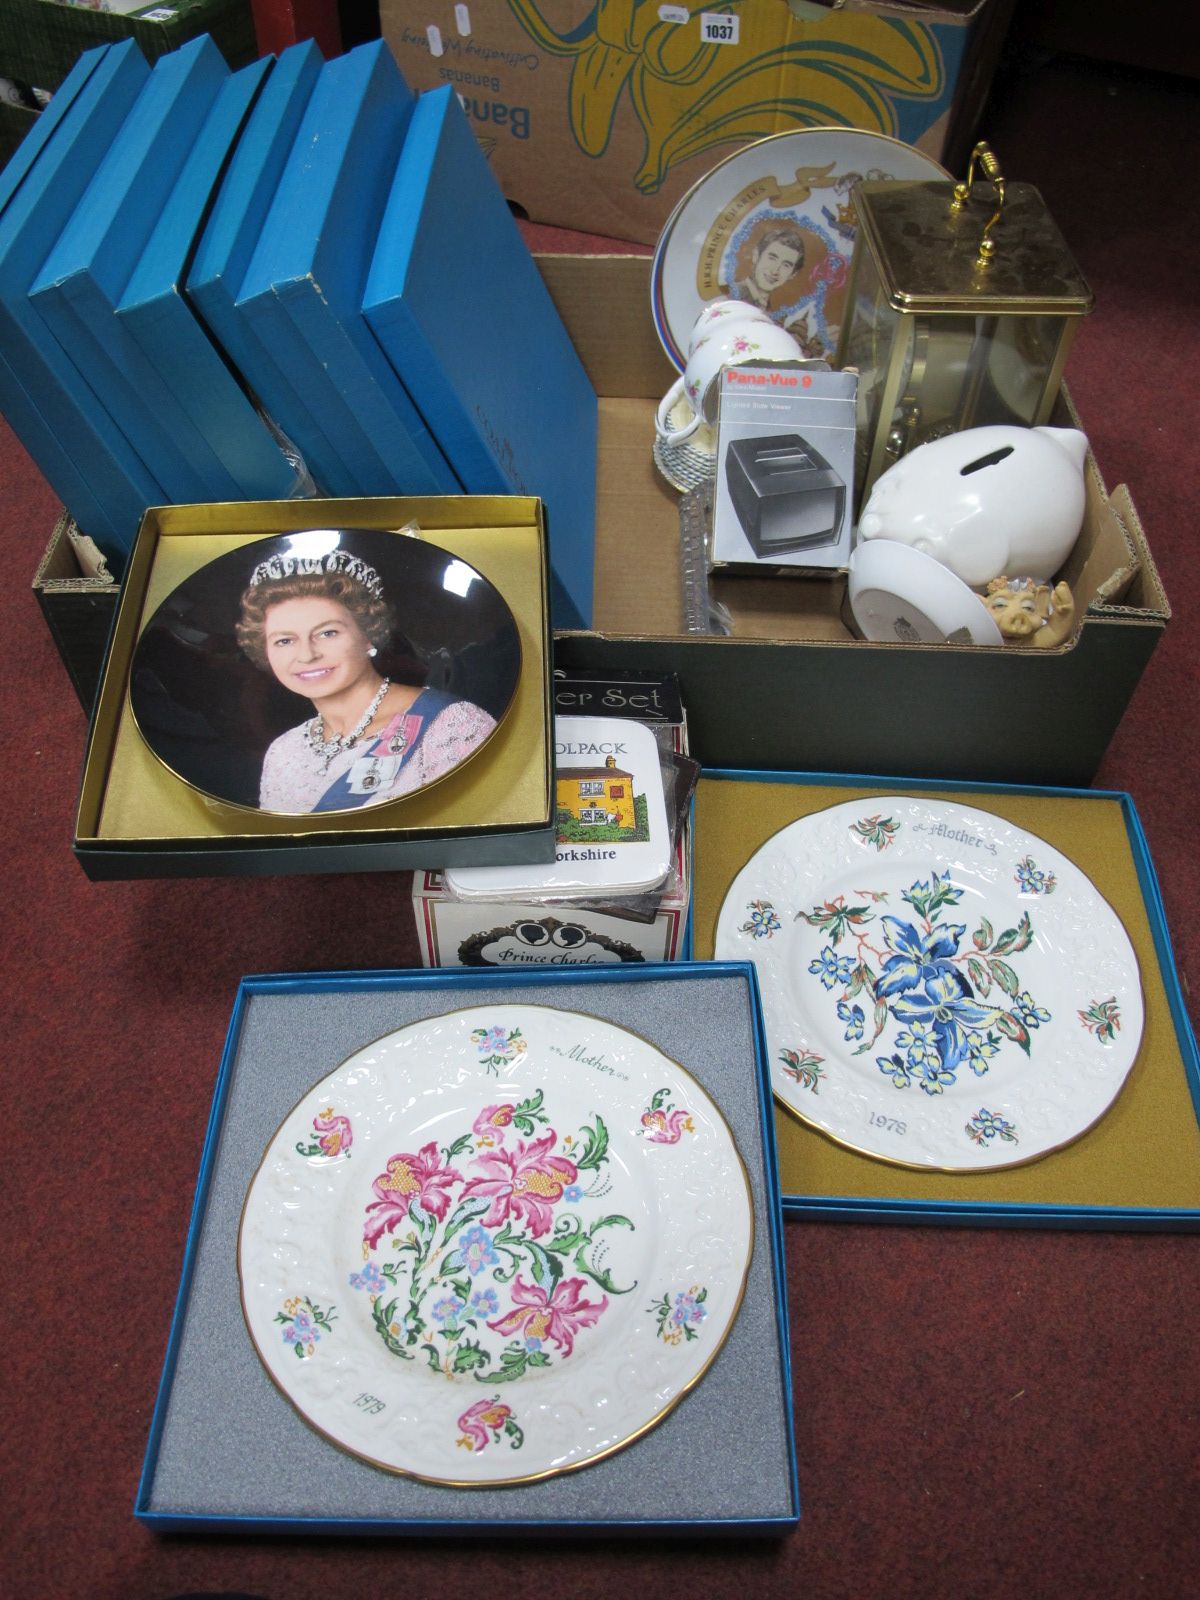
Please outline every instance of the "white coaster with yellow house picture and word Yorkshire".
[[645, 894], [670, 870], [670, 824], [654, 734], [619, 717], [555, 717], [555, 859], [531, 867], [459, 867], [459, 899]]

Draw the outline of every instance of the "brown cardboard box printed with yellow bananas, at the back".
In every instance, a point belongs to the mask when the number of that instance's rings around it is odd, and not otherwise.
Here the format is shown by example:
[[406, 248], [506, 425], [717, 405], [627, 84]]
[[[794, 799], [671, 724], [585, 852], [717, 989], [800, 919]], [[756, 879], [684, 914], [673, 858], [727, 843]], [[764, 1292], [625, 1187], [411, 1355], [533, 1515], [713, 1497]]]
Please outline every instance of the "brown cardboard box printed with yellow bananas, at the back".
[[650, 245], [699, 178], [765, 134], [867, 128], [958, 165], [1011, 8], [382, 0], [379, 21], [414, 88], [458, 91], [526, 216]]

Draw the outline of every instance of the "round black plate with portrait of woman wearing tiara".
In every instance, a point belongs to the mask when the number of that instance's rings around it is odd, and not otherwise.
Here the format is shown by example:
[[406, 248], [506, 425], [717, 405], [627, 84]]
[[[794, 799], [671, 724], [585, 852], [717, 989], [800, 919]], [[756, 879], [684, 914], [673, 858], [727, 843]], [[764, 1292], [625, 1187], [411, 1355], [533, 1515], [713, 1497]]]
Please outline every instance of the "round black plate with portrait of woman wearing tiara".
[[520, 678], [499, 590], [424, 538], [314, 528], [186, 578], [138, 638], [130, 707], [203, 795], [296, 816], [427, 789], [488, 742]]

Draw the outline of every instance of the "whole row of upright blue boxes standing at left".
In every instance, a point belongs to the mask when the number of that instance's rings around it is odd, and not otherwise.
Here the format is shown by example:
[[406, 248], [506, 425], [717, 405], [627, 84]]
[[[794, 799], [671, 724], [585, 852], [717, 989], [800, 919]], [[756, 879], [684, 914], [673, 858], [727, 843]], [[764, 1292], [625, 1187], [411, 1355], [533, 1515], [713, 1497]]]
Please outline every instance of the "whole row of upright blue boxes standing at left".
[[0, 411], [117, 573], [147, 506], [538, 494], [590, 624], [595, 394], [453, 91], [382, 43], [82, 56], [0, 173]]

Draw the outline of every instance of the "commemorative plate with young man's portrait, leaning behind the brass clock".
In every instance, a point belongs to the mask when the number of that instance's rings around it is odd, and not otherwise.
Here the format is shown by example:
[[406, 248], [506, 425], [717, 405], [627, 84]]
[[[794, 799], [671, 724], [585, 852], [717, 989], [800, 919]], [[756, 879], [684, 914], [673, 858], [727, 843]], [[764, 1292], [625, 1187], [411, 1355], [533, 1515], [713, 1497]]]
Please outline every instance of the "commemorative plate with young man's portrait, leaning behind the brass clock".
[[659, 234], [650, 294], [667, 357], [683, 371], [691, 328], [718, 296], [768, 310], [806, 357], [832, 357], [854, 250], [851, 189], [947, 176], [910, 144], [854, 128], [774, 133], [734, 150]]

